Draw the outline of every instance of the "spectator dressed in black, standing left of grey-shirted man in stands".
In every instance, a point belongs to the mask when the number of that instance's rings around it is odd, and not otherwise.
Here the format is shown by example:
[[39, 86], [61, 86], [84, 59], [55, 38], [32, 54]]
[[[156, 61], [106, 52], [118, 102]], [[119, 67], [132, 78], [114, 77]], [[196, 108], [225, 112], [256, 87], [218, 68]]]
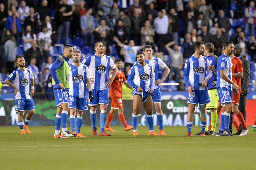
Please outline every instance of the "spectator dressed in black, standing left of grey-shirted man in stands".
[[79, 17], [79, 8], [75, 4], [72, 5], [72, 16], [70, 19], [70, 31], [72, 37], [80, 35], [80, 17]]

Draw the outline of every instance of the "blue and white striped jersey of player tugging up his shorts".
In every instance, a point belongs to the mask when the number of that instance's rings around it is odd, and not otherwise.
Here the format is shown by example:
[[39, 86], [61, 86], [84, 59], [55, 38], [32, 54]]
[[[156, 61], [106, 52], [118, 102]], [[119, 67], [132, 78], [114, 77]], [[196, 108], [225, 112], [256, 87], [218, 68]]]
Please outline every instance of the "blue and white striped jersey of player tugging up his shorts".
[[144, 67], [140, 64], [132, 66], [129, 70], [127, 82], [135, 89], [140, 86], [145, 92], [150, 89], [154, 91], [155, 74], [153, 67], [148, 64]]

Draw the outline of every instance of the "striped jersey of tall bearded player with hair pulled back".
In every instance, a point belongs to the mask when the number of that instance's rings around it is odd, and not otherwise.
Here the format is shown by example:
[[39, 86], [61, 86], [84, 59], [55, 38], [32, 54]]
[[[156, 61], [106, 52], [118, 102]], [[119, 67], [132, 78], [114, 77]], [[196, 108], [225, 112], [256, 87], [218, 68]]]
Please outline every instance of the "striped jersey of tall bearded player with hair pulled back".
[[109, 69], [116, 67], [109, 56], [103, 55], [100, 58], [96, 54], [93, 54], [84, 59], [82, 63], [88, 66], [89, 73], [94, 78], [92, 89], [104, 90], [109, 88], [105, 86], [104, 82], [108, 81]]

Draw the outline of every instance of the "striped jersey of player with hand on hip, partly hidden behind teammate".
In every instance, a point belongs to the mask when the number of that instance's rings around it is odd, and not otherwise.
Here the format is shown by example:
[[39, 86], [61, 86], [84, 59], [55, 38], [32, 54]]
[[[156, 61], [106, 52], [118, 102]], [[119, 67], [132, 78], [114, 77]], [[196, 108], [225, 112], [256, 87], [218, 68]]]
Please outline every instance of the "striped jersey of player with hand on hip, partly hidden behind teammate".
[[[161, 60], [158, 57], [157, 58], [156, 57], [152, 57], [152, 59], [149, 60], [149, 61], [145, 59], [145, 62], [153, 67], [153, 69], [155, 70], [155, 72], [154, 72], [155, 80], [158, 80], [159, 69], [160, 68], [161, 69], [165, 68], [166, 64], [163, 62], [163, 60]], [[136, 61], [134, 63], [134, 66], [135, 65], [138, 65], [138, 61]], [[159, 87], [159, 85], [158, 86], [155, 85], [155, 89], [157, 89], [158, 87]]]

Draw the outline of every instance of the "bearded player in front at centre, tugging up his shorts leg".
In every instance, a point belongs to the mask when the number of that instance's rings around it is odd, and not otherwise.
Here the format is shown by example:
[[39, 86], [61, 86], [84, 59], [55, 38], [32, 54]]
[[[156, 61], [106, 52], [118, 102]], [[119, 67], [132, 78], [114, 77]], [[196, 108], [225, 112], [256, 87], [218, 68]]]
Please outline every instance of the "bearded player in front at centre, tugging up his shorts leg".
[[151, 96], [155, 86], [155, 70], [152, 66], [146, 64], [143, 52], [138, 52], [136, 58], [138, 64], [132, 66], [129, 70], [127, 79], [128, 83], [134, 88], [132, 114], [133, 136], [138, 136], [137, 122], [142, 103], [147, 114], [147, 123], [151, 135], [159, 135], [154, 131], [153, 100]]

